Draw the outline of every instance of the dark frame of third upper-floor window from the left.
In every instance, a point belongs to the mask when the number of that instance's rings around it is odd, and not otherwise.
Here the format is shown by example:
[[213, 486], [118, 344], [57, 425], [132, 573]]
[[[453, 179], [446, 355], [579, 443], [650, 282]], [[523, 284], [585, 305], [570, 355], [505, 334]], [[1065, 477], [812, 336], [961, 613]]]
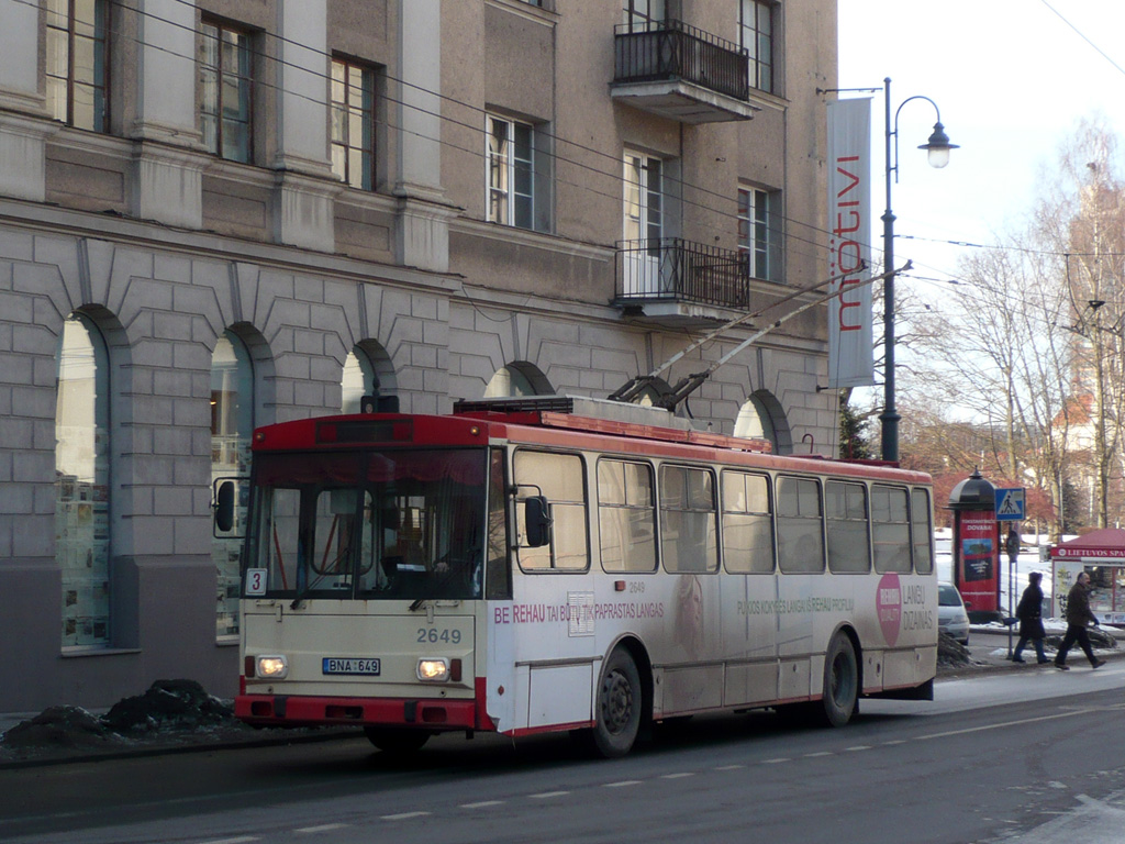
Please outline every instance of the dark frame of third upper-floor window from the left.
[[[338, 78], [342, 71], [342, 79]], [[328, 96], [328, 145], [332, 160], [332, 172], [344, 185], [358, 190], [374, 191], [378, 183], [378, 107], [379, 107], [379, 69], [367, 62], [360, 62], [343, 55], [333, 55], [330, 63], [331, 79]], [[359, 84], [352, 81], [352, 74], [359, 74]], [[342, 99], [338, 96], [342, 91]], [[358, 99], [358, 105], [353, 102]], [[338, 115], [343, 116], [338, 119]], [[353, 118], [358, 122], [361, 137], [354, 143], [352, 137]], [[340, 137], [338, 134], [342, 134]], [[342, 150], [341, 164], [336, 165], [338, 150]], [[353, 170], [353, 159], [359, 158], [359, 173]]]

